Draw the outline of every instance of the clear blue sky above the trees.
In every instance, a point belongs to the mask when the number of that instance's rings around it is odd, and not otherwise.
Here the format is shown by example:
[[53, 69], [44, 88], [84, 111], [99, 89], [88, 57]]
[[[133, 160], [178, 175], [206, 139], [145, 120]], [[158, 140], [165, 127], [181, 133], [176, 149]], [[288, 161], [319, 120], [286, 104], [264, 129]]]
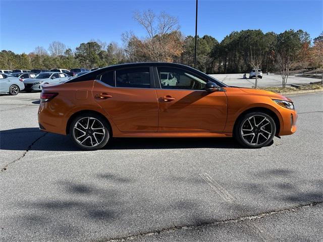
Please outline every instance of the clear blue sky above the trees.
[[[144, 29], [133, 19], [135, 11], [165, 11], [177, 17], [184, 35], [195, 34], [195, 0], [180, 1], [54, 1], [0, 0], [0, 50], [29, 53], [46, 49], [52, 41], [74, 49], [82, 42], [99, 39], [122, 44], [122, 33], [140, 37]], [[198, 1], [198, 35], [219, 42], [232, 31], [261, 29], [264, 33], [303, 29], [311, 38], [323, 31], [320, 1]]]

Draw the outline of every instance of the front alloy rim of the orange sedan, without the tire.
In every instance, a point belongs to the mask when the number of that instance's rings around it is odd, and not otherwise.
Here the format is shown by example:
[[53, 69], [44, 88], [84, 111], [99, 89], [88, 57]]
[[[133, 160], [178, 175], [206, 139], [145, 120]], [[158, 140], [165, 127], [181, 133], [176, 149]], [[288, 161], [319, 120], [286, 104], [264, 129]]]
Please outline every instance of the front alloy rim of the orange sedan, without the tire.
[[241, 126], [241, 138], [248, 145], [259, 146], [273, 137], [274, 129], [268, 117], [256, 114], [244, 120]]

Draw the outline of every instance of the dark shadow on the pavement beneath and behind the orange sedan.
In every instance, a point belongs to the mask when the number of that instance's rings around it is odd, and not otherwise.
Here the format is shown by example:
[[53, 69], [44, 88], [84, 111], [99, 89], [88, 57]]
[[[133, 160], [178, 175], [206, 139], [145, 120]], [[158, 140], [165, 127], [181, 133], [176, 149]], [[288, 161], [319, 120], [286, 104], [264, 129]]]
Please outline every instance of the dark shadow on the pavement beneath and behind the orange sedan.
[[[79, 150], [64, 135], [39, 131], [38, 128], [21, 128], [0, 131], [0, 149], [2, 150], [43, 150], [76, 151]], [[103, 149], [244, 149], [233, 138], [113, 138]]]

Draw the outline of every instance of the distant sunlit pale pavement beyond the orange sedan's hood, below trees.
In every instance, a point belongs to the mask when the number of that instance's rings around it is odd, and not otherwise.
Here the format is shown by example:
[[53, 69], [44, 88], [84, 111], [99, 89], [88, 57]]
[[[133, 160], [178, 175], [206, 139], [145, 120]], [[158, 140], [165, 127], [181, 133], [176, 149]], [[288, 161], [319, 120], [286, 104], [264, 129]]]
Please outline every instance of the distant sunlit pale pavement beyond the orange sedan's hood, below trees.
[[[238, 86], [238, 87], [253, 87], [256, 79], [249, 79], [249, 74], [247, 73], [247, 79], [243, 79], [243, 73], [241, 74], [213, 74], [210, 75], [215, 77], [221, 82], [229, 86]], [[289, 76], [287, 79], [287, 85], [289, 84], [309, 84], [310, 82], [317, 82], [319, 79], [315, 78], [304, 78]], [[266, 75], [263, 73], [262, 79], [258, 79], [258, 87], [281, 87], [282, 86], [282, 77], [280, 75], [270, 74]]]

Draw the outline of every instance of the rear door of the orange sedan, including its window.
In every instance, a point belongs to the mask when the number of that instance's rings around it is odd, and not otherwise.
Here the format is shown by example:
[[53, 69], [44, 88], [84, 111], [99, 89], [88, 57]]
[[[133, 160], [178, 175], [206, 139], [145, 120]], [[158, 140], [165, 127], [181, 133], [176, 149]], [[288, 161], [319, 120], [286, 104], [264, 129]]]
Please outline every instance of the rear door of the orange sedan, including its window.
[[97, 77], [92, 94], [121, 132], [156, 132], [158, 102], [149, 66], [107, 71]]

